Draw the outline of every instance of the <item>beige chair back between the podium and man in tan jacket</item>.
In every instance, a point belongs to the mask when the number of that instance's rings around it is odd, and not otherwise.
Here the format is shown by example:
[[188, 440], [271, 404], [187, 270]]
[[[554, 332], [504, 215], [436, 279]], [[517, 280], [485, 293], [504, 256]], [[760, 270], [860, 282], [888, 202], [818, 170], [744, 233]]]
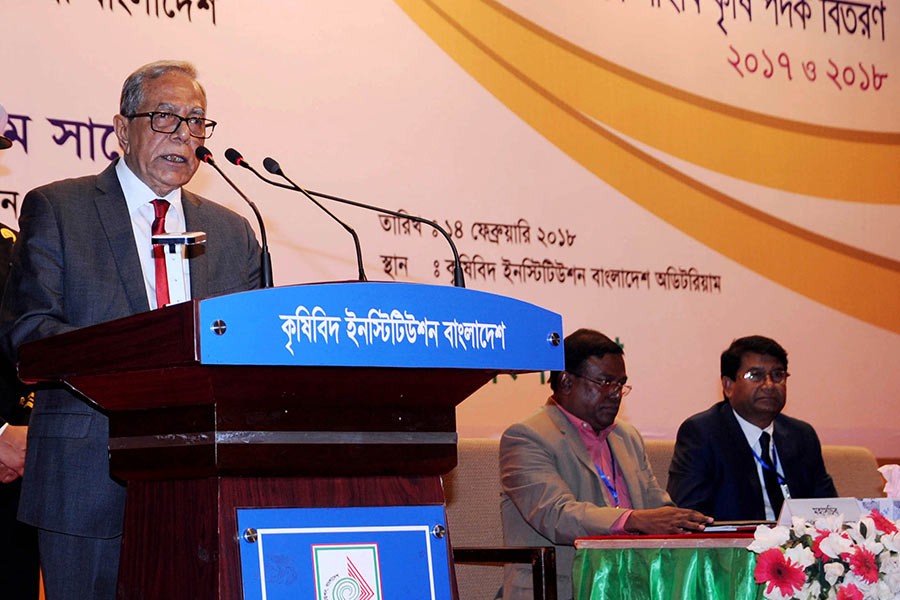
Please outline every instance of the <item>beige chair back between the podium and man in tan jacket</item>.
[[[459, 463], [444, 476], [447, 527], [454, 546], [502, 546], [500, 442], [461, 438]], [[493, 600], [503, 584], [502, 565], [457, 565], [460, 600]]]

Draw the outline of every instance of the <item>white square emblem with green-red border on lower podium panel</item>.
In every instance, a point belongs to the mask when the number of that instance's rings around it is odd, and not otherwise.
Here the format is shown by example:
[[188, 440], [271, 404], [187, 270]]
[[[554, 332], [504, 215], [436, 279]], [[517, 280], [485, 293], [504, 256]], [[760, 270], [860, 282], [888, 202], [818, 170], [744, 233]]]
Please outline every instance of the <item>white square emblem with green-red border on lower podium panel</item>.
[[313, 545], [317, 600], [381, 600], [377, 544]]

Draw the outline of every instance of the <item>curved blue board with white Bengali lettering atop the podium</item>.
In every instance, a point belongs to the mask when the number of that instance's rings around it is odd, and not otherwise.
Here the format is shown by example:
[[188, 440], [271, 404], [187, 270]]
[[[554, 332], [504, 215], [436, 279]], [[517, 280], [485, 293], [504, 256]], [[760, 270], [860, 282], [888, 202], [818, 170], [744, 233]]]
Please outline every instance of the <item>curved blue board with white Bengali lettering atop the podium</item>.
[[327, 283], [200, 302], [207, 365], [562, 369], [562, 318], [463, 288]]

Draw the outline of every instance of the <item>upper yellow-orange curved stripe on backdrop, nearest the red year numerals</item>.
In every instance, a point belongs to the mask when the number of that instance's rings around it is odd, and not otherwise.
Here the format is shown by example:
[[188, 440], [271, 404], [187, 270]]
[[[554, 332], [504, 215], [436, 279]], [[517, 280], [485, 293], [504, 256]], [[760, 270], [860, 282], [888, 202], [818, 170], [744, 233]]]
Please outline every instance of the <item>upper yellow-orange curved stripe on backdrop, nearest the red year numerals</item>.
[[[809, 125], [689, 94], [590, 54], [493, 0], [400, 4], [419, 14], [430, 6], [560, 102], [693, 164], [820, 198], [900, 202], [900, 134]], [[445, 50], [454, 56], [459, 49]]]

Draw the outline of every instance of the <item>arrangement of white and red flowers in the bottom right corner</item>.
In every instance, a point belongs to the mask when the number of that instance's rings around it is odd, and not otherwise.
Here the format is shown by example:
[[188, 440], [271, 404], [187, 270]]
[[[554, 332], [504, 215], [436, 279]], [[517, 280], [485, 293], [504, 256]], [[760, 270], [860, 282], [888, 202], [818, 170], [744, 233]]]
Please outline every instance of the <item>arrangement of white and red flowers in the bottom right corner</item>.
[[877, 510], [849, 523], [760, 525], [748, 547], [759, 555], [753, 574], [769, 600], [900, 600], [898, 526]]

